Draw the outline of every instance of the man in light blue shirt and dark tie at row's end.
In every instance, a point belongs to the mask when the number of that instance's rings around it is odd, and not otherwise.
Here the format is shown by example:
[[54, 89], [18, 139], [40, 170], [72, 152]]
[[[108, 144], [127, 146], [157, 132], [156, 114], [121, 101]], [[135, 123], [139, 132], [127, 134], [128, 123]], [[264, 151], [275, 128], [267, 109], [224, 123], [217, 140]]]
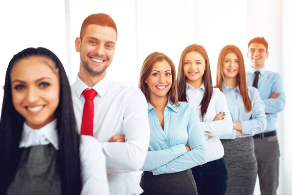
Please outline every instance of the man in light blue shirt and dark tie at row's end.
[[276, 195], [280, 157], [276, 120], [277, 113], [285, 107], [286, 97], [281, 75], [266, 70], [268, 56], [268, 42], [264, 38], [258, 37], [248, 43], [247, 57], [252, 68], [246, 72], [247, 84], [258, 89], [267, 116], [267, 129], [254, 136], [260, 191], [262, 195]]

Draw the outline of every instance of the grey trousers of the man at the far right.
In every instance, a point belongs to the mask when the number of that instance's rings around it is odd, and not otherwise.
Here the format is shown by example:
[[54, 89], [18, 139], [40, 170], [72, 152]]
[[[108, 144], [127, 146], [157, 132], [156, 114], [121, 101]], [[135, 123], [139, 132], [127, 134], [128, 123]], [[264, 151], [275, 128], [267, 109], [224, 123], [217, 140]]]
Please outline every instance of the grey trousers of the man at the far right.
[[276, 195], [279, 185], [279, 142], [277, 136], [255, 138], [255, 154], [262, 195]]

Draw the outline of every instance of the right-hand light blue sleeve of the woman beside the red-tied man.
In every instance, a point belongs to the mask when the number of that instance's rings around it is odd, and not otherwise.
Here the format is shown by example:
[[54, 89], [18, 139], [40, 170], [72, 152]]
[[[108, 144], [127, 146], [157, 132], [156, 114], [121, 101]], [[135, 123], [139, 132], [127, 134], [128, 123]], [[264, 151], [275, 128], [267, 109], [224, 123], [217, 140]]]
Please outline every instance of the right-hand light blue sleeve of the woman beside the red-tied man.
[[207, 162], [206, 139], [199, 125], [199, 115], [195, 108], [189, 107], [189, 109], [190, 115], [189, 118], [186, 119], [186, 122], [188, 122], [188, 142], [190, 144], [191, 151], [177, 157], [157, 169], [153, 169], [153, 175], [177, 173]]

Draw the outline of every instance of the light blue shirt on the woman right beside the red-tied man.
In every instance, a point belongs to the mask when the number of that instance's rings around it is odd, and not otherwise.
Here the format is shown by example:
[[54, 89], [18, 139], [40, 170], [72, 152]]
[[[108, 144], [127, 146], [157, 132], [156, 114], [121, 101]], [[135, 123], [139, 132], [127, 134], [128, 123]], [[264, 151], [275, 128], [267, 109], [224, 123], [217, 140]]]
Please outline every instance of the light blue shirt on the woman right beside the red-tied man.
[[[141, 170], [153, 175], [177, 173], [207, 162], [206, 139], [195, 108], [186, 102], [176, 107], [170, 102], [164, 109], [162, 129], [155, 108], [148, 103], [150, 143]], [[187, 152], [185, 145], [191, 151]]]

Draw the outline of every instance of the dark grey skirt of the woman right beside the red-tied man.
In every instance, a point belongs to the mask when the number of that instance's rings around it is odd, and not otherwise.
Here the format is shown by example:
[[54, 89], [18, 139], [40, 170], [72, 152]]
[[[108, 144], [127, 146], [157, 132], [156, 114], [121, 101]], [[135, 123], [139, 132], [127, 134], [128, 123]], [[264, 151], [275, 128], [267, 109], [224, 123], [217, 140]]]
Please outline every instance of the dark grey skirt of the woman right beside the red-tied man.
[[198, 195], [191, 169], [156, 176], [145, 171], [140, 186], [144, 190], [142, 195]]

